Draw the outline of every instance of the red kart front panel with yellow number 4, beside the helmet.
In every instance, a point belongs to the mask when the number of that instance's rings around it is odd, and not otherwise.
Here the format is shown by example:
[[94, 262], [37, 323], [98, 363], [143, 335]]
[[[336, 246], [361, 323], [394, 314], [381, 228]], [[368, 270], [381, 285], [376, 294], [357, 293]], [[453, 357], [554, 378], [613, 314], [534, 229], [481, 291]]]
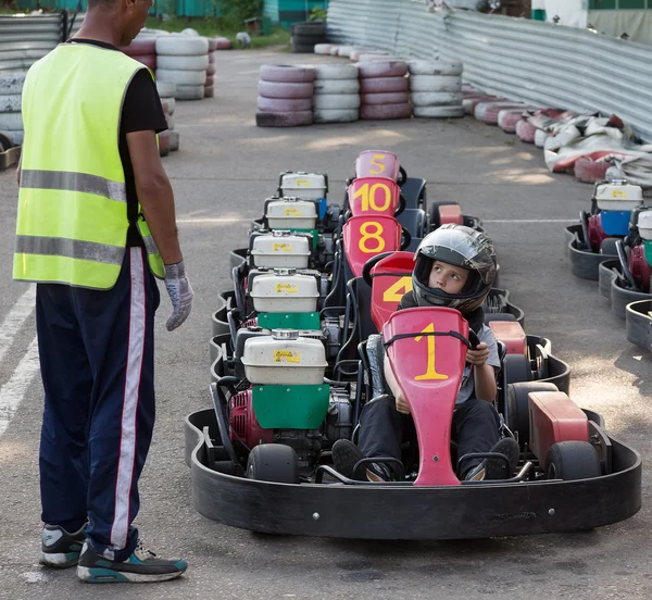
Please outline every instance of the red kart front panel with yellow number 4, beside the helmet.
[[372, 320], [379, 332], [396, 312], [403, 295], [412, 291], [414, 254], [394, 252], [372, 268]]

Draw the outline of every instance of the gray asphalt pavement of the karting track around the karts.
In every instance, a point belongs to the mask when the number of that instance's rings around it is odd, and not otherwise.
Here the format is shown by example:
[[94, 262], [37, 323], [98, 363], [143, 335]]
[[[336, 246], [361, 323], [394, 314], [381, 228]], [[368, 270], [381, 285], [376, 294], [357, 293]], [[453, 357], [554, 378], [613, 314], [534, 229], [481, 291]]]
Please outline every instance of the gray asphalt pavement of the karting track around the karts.
[[0, 173], [1, 599], [652, 596], [651, 489], [644, 475], [643, 505], [635, 517], [573, 535], [447, 542], [274, 538], [216, 524], [193, 510], [183, 423], [188, 413], [209, 405], [211, 313], [217, 293], [230, 288], [228, 252], [246, 243], [249, 223], [275, 191], [279, 172], [326, 172], [331, 201], [338, 201], [356, 155], [372, 148], [396, 152], [409, 174], [427, 178], [430, 201], [459, 201], [466, 214], [485, 221], [499, 253], [501, 286], [524, 309], [528, 333], [549, 337], [554, 353], [573, 366], [574, 400], [601, 412], [609, 432], [637, 449], [644, 463], [652, 455], [650, 354], [626, 340], [624, 322], [612, 315], [597, 283], [573, 277], [563, 252], [564, 227], [589, 208], [591, 187], [549, 174], [541, 150], [469, 117], [255, 127], [261, 64], [336, 60], [218, 52], [215, 98], [177, 104], [181, 150], [164, 164], [197, 296], [188, 322], [167, 333], [163, 324], [171, 308], [163, 293], [156, 328], [158, 423], [137, 518], [155, 552], [188, 560], [187, 575], [176, 582], [92, 586], [78, 582], [74, 570], [38, 565], [42, 388], [33, 290], [11, 280], [15, 172]]

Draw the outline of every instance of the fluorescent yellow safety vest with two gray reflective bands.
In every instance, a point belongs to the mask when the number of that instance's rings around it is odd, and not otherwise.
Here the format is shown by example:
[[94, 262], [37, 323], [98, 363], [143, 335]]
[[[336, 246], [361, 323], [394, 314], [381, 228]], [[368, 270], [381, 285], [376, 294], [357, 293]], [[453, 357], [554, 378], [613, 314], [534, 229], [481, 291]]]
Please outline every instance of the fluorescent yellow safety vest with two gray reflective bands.
[[[93, 289], [115, 285], [129, 227], [120, 122], [140, 68], [115, 50], [62, 43], [29, 70], [14, 279]], [[142, 216], [138, 228], [152, 272], [164, 277]]]

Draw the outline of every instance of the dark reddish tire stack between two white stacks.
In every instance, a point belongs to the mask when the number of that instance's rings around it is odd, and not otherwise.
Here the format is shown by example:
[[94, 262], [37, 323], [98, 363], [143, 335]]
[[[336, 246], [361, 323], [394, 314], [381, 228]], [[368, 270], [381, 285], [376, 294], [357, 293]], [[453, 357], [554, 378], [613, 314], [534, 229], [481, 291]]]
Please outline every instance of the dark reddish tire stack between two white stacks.
[[359, 62], [360, 118], [410, 118], [412, 105], [408, 83], [408, 65], [401, 61]]

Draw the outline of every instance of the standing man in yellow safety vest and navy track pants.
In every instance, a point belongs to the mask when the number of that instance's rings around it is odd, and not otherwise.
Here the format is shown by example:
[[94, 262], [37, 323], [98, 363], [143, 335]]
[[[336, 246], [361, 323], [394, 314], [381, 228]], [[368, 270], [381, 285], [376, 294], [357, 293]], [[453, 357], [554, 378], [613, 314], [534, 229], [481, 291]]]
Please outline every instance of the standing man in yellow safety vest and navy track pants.
[[75, 38], [29, 71], [14, 278], [37, 283], [46, 392], [41, 563], [87, 582], [159, 582], [181, 560], [133, 526], [154, 424], [153, 323], [165, 279], [172, 330], [192, 305], [152, 74], [123, 54], [151, 0], [88, 0]]

